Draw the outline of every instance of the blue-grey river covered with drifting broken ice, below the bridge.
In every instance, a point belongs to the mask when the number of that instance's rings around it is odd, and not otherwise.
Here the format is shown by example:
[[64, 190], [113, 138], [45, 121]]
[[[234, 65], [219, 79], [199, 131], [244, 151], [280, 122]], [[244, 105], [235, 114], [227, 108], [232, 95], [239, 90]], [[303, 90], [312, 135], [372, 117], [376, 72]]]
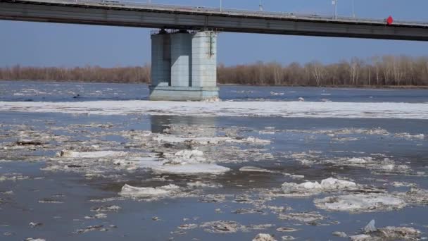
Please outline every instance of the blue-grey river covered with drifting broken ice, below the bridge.
[[148, 93], [0, 82], [0, 240], [427, 237], [428, 90]]

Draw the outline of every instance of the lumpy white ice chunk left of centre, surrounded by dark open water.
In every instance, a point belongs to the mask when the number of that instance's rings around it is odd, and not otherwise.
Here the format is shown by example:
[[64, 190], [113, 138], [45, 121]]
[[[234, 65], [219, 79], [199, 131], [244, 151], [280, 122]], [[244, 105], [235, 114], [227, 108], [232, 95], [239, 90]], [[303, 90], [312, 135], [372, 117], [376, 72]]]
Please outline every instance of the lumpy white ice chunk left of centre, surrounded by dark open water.
[[173, 184], [162, 187], [132, 187], [125, 184], [119, 192], [119, 195], [128, 198], [150, 199], [156, 197], [170, 197], [178, 192], [180, 192], [180, 187]]

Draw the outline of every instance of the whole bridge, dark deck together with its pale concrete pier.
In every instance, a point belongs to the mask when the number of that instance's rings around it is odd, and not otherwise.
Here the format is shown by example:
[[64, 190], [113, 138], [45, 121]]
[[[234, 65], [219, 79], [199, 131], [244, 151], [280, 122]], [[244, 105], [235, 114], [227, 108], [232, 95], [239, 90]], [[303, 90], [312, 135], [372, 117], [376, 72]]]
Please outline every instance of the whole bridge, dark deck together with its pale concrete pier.
[[428, 23], [106, 0], [0, 0], [0, 19], [160, 29], [151, 34], [153, 100], [218, 97], [218, 32], [428, 41]]

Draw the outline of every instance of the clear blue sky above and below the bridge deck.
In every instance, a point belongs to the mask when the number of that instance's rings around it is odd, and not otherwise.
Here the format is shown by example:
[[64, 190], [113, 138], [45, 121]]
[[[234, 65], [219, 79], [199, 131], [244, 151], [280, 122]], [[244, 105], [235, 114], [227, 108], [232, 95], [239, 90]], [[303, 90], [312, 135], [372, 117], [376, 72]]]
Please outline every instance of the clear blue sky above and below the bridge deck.
[[[265, 11], [334, 13], [331, 0], [262, 0]], [[351, 16], [352, 0], [338, 0], [339, 15]], [[220, 0], [152, 0], [163, 4], [219, 6]], [[223, 0], [225, 8], [257, 9], [258, 0]], [[428, 22], [427, 0], [355, 0], [355, 15]], [[137, 66], [150, 62], [150, 29], [0, 20], [0, 66]], [[221, 33], [218, 62], [322, 61], [353, 56], [428, 56], [428, 42]]]

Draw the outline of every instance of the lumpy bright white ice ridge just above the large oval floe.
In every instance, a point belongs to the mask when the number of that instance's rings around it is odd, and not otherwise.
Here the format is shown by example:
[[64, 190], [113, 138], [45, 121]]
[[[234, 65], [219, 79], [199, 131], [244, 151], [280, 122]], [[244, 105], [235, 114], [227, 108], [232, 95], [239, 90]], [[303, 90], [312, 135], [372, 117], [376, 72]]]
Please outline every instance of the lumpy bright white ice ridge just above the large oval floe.
[[335, 178], [327, 178], [318, 182], [306, 182], [306, 183], [283, 183], [282, 190], [284, 194], [290, 194], [291, 196], [310, 196], [320, 192], [331, 192], [341, 190], [355, 190], [358, 186], [356, 183], [339, 180]]

